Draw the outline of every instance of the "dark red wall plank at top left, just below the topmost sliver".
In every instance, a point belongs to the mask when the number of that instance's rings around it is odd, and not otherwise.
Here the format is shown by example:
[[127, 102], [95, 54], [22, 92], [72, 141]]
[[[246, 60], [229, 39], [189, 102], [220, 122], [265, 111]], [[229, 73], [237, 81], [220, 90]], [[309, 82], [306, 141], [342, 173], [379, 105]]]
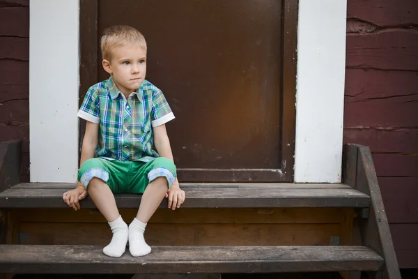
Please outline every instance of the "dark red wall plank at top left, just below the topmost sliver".
[[29, 7], [0, 8], [0, 36], [29, 38]]

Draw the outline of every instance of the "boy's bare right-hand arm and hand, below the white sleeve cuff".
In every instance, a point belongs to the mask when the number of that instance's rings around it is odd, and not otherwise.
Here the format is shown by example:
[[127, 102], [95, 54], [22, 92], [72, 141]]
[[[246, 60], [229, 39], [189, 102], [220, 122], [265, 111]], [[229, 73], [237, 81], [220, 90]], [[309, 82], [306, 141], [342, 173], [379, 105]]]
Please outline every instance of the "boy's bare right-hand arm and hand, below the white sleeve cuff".
[[[153, 133], [155, 149], [157, 149], [158, 154], [161, 157], [168, 158], [174, 163], [173, 152], [171, 151], [170, 140], [167, 135], [165, 124], [153, 127]], [[176, 181], [171, 185], [167, 192], [166, 197], [169, 198], [169, 208], [171, 207], [172, 209], [176, 209], [176, 204], [177, 207], [180, 207], [180, 204], [183, 204], [185, 201], [185, 192], [180, 190], [177, 177]]]

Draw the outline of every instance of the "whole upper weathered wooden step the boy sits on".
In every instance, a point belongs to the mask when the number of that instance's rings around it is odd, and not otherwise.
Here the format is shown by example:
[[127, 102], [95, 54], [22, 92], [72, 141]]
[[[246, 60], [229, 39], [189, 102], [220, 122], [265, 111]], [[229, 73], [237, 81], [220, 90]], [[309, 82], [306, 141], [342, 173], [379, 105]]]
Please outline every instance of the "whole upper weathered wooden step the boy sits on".
[[[22, 183], [0, 193], [0, 208], [68, 208], [72, 183]], [[188, 208], [369, 207], [370, 197], [344, 184], [182, 183]], [[116, 195], [119, 208], [137, 209], [141, 195]], [[82, 208], [95, 208], [87, 197]], [[167, 207], [164, 199], [162, 207]]]

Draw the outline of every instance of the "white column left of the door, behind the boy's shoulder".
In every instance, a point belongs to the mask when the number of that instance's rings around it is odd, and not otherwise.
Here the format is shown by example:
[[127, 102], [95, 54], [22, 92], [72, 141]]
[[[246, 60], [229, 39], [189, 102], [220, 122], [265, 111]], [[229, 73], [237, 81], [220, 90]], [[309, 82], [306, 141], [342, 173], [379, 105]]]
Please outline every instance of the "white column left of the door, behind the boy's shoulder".
[[75, 182], [78, 0], [31, 0], [29, 56], [31, 182]]

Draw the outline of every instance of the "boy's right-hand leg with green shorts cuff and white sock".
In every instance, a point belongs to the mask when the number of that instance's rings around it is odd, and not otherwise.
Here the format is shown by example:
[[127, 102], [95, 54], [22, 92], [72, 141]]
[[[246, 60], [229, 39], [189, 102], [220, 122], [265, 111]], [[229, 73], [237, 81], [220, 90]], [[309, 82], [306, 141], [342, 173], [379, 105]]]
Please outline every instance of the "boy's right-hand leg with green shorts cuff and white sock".
[[[132, 183], [134, 186], [132, 192], [144, 194], [137, 217], [129, 226], [129, 250], [133, 257], [144, 256], [151, 252], [150, 246], [144, 239], [146, 224], [160, 206], [168, 188], [175, 181], [176, 166], [167, 158], [156, 158], [141, 167], [138, 174], [137, 179]], [[145, 191], [144, 187], [146, 187]]]

